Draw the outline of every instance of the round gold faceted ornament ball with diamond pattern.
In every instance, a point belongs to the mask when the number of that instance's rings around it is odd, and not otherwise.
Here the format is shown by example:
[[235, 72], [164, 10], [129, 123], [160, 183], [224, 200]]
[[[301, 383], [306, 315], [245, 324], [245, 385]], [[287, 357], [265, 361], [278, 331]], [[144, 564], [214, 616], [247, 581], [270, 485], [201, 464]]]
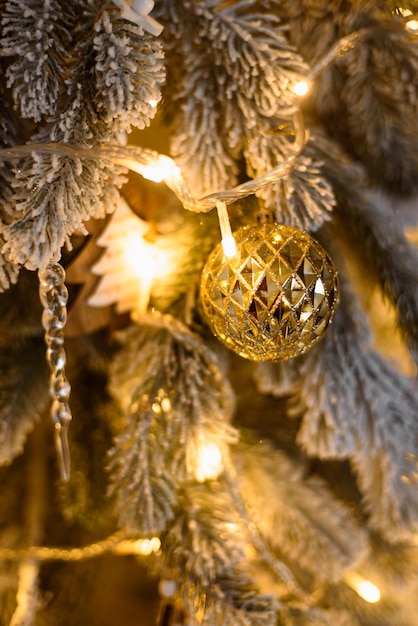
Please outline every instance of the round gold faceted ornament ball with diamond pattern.
[[203, 269], [201, 302], [213, 334], [253, 361], [276, 361], [310, 349], [332, 322], [337, 273], [307, 233], [280, 224], [244, 226], [236, 254], [219, 244]]

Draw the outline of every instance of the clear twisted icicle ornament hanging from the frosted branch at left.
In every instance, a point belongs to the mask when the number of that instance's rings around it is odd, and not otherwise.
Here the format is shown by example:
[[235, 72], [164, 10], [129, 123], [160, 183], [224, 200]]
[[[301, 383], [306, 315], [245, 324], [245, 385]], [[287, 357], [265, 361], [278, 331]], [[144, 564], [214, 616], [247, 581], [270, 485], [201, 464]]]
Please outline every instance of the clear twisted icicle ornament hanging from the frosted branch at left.
[[55, 446], [61, 478], [70, 477], [68, 427], [71, 409], [68, 404], [71, 387], [65, 376], [66, 356], [64, 327], [67, 322], [68, 291], [65, 270], [59, 263], [50, 263], [39, 270], [39, 297], [43, 306], [42, 325], [45, 329], [46, 358], [51, 372], [49, 395], [52, 399], [51, 418], [55, 427]]

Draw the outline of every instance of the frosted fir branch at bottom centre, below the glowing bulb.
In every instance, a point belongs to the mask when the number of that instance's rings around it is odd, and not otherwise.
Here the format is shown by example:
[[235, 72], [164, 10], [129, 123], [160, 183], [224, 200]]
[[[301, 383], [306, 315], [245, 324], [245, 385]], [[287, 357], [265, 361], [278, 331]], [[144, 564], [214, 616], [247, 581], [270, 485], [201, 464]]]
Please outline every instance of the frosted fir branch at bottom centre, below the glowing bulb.
[[243, 569], [246, 532], [223, 482], [189, 487], [182, 514], [163, 542], [183, 579], [190, 623], [273, 626], [278, 603], [260, 594]]

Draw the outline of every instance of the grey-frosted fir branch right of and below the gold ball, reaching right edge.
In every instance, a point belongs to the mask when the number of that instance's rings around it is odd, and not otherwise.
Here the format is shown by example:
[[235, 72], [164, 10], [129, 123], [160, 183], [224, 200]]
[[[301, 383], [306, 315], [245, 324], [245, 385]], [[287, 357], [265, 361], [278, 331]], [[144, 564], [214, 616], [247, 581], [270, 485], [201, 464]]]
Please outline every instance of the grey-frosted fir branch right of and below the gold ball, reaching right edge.
[[322, 349], [307, 355], [298, 442], [311, 456], [350, 459], [371, 527], [397, 540], [418, 522], [418, 396], [371, 349], [361, 324], [343, 302]]

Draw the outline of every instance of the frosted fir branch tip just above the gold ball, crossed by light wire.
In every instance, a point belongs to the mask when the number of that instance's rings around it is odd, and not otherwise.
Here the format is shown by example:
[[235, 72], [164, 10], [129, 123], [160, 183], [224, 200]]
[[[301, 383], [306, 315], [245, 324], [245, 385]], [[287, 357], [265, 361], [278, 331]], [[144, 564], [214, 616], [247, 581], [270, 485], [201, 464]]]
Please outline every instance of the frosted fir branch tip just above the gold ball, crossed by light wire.
[[[274, 131], [255, 134], [245, 150], [248, 173], [258, 178], [274, 169], [291, 150], [289, 137]], [[335, 198], [322, 164], [309, 150], [296, 161], [291, 173], [257, 192], [278, 222], [313, 231], [330, 219]]]

